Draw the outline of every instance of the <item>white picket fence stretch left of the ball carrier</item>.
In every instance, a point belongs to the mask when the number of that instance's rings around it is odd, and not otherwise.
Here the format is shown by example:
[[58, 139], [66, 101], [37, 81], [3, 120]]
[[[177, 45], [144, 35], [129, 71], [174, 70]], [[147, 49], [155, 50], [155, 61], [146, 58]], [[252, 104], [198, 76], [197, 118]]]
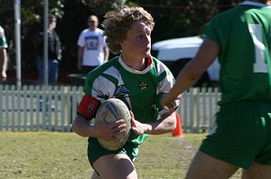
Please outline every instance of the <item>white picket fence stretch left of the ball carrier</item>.
[[0, 85], [0, 131], [71, 131], [82, 94], [76, 86]]

